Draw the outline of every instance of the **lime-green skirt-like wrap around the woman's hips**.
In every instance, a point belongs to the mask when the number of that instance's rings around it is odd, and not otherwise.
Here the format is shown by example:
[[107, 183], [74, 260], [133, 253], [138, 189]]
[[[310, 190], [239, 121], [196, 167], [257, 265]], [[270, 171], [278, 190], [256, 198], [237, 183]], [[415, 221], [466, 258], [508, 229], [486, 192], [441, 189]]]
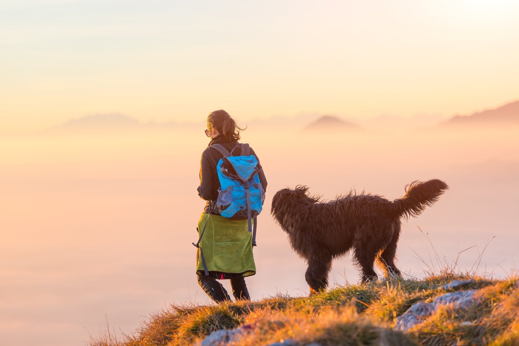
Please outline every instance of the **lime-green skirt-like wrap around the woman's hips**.
[[[233, 279], [254, 275], [256, 265], [252, 254], [252, 232], [249, 232], [247, 220], [230, 220], [220, 215], [202, 213], [197, 228], [199, 236], [206, 222], [200, 247], [208, 276]], [[196, 273], [206, 276], [200, 249], [197, 250]]]

